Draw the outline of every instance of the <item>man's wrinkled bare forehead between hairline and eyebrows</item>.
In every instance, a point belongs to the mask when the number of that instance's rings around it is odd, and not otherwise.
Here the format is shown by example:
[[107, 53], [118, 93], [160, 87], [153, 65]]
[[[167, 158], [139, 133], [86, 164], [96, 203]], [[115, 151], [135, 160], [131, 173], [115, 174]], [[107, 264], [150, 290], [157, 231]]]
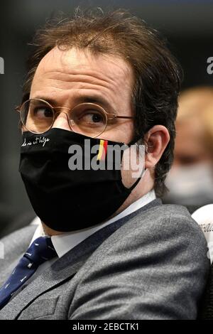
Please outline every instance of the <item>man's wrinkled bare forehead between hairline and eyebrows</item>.
[[[88, 49], [60, 50], [55, 47], [40, 61], [32, 89], [38, 89], [38, 83], [49, 85], [50, 80], [55, 80], [54, 85], [59, 88], [73, 88], [73, 83], [76, 88], [82, 88], [83, 83], [85, 87], [88, 83], [117, 90], [117, 94], [122, 90], [131, 92], [133, 71], [129, 63], [119, 56], [94, 55]], [[80, 82], [81, 85], [77, 85]]]

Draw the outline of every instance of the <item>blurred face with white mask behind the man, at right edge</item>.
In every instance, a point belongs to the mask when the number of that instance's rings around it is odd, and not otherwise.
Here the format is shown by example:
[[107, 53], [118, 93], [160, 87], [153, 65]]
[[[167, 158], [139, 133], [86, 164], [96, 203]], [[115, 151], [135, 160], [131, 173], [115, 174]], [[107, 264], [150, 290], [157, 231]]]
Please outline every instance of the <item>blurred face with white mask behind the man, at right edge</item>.
[[168, 203], [213, 202], [213, 88], [180, 95], [173, 168], [166, 185]]

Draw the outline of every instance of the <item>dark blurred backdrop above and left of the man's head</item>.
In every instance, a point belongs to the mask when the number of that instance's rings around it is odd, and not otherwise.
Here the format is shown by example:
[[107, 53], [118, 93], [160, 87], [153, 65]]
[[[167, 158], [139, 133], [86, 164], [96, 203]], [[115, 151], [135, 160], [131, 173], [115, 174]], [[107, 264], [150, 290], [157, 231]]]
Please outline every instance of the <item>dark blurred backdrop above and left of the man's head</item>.
[[4, 210], [0, 225], [13, 216], [20, 217], [22, 212], [29, 213], [21, 216], [21, 221], [32, 215], [18, 173], [21, 136], [14, 107], [21, 101], [25, 60], [30, 50], [27, 43], [47, 18], [59, 11], [72, 13], [76, 6], [129, 9], [168, 38], [170, 49], [185, 72], [183, 88], [213, 85], [213, 75], [207, 74], [207, 58], [213, 57], [213, 1], [3, 0], [0, 6], [0, 56], [5, 62], [5, 74], [0, 75], [0, 215]]

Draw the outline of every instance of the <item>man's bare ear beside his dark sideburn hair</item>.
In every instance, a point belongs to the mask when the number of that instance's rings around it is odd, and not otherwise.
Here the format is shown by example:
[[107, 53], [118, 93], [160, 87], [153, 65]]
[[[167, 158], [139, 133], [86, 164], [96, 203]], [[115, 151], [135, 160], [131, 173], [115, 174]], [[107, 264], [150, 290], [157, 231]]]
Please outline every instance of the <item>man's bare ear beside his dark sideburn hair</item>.
[[170, 134], [163, 125], [155, 125], [147, 132], [145, 135], [145, 144], [147, 146], [145, 168], [155, 167], [169, 141]]

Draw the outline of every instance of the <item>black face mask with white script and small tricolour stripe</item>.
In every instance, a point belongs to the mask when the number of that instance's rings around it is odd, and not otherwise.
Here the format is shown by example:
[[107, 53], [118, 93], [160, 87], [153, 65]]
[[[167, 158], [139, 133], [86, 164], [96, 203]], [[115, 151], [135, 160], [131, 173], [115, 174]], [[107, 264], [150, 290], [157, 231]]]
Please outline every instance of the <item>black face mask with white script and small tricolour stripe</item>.
[[[109, 156], [107, 145], [118, 149], [124, 145], [56, 128], [44, 134], [23, 132], [19, 171], [36, 215], [53, 230], [82, 230], [107, 220], [140, 181], [138, 178], [131, 188], [126, 188], [121, 181], [121, 168], [114, 161], [112, 170], [87, 170], [84, 163], [82, 170], [70, 170], [68, 163], [73, 154], [69, 153], [69, 148], [72, 145], [82, 147], [82, 161], [87, 158], [88, 162], [84, 139], [89, 139], [91, 148], [100, 147], [90, 158], [99, 157], [102, 164], [107, 163]], [[104, 162], [103, 149], [106, 152]], [[123, 153], [121, 150], [121, 156]]]

